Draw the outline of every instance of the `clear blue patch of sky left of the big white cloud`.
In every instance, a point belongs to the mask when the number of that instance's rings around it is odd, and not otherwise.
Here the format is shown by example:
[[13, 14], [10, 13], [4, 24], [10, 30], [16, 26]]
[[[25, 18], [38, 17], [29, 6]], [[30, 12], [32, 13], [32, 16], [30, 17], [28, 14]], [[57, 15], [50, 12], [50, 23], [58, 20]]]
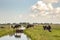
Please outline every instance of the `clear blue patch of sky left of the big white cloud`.
[[25, 13], [36, 1], [37, 0], [0, 0], [0, 10]]

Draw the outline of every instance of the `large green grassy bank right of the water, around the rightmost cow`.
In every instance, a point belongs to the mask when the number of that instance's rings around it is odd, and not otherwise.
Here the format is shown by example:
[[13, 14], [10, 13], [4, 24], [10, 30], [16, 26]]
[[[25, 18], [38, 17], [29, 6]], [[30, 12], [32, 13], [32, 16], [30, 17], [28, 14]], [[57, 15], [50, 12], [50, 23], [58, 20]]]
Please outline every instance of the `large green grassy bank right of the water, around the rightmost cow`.
[[43, 30], [42, 25], [35, 26], [34, 28], [26, 29], [24, 32], [32, 40], [60, 40], [60, 25], [51, 25], [52, 32]]

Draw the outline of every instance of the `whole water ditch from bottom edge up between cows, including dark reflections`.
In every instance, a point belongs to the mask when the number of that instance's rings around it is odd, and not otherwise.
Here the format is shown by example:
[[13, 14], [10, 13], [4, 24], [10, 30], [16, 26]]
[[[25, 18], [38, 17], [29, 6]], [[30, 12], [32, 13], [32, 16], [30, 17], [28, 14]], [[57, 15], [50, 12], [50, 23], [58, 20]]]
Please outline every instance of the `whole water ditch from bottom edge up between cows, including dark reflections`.
[[26, 34], [23, 33], [23, 26], [16, 30], [16, 33], [0, 37], [0, 40], [31, 40]]

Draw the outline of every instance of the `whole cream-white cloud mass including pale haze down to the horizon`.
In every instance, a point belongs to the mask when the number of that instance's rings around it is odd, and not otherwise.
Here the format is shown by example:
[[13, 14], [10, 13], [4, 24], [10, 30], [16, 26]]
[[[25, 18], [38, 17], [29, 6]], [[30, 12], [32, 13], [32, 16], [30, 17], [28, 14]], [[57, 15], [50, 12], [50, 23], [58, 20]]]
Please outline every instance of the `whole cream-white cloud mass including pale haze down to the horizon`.
[[0, 21], [1, 23], [14, 23], [14, 22], [60, 23], [60, 7], [53, 6], [53, 4], [58, 2], [60, 2], [60, 0], [40, 0], [37, 1], [34, 5], [32, 5], [31, 13], [20, 15], [18, 14], [15, 16], [8, 17], [5, 16], [0, 17]]

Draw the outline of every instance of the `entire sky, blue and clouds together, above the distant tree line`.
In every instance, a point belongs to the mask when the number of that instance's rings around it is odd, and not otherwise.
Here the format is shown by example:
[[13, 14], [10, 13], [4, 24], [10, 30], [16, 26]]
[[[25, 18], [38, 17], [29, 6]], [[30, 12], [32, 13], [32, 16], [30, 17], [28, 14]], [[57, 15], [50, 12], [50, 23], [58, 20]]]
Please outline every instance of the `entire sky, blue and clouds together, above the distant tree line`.
[[60, 0], [0, 0], [0, 23], [60, 23]]

